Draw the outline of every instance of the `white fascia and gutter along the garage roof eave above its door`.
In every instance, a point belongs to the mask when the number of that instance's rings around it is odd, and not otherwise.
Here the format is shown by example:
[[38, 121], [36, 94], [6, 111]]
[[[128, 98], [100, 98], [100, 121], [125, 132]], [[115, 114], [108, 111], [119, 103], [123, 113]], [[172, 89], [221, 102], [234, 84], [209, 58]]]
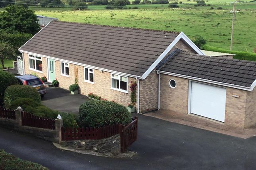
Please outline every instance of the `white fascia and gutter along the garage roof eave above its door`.
[[212, 81], [212, 80], [208, 80], [208, 79], [202, 79], [202, 78], [198, 78], [198, 77], [185, 76], [185, 75], [181, 75], [181, 74], [164, 72], [164, 71], [160, 71], [160, 70], [158, 70], [158, 72], [162, 73], [162, 74], [168, 74], [168, 75], [171, 75], [171, 76], [182, 77], [182, 78], [185, 78], [185, 79], [197, 80], [197, 81], [202, 81], [202, 82], [205, 82], [205, 83], [211, 83], [211, 84], [215, 84], [215, 85], [221, 85], [221, 86], [225, 86], [225, 87], [232, 87], [232, 88], [235, 88], [235, 89], [241, 89], [241, 90], [246, 90], [246, 91], [252, 91], [253, 90], [250, 87], [244, 87], [244, 86], [239, 86], [239, 85], [222, 83], [222, 82]]

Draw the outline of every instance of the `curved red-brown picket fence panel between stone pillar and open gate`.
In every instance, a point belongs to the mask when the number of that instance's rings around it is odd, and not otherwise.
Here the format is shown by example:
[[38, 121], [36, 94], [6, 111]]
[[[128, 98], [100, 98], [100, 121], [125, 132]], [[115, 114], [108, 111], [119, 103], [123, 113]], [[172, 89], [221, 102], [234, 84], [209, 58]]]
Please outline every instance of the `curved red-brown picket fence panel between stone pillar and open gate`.
[[62, 127], [62, 140], [100, 140], [119, 133], [119, 125], [99, 128], [64, 128]]

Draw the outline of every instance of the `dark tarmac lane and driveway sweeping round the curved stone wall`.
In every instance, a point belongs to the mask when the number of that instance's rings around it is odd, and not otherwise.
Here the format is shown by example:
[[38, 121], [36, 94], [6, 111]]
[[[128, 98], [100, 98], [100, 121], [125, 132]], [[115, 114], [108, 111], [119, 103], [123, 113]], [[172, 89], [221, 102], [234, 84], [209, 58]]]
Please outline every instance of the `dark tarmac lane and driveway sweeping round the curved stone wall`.
[[[133, 114], [135, 116], [137, 114]], [[63, 151], [51, 142], [0, 128], [0, 148], [50, 170], [255, 170], [256, 138], [236, 138], [139, 117], [132, 158], [108, 158]]]

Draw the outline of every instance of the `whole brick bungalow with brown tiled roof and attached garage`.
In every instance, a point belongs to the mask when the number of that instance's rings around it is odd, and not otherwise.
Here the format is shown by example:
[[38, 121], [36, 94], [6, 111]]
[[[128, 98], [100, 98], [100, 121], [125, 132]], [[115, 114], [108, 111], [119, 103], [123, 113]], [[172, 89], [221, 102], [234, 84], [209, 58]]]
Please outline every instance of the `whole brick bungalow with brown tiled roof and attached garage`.
[[164, 108], [256, 124], [256, 63], [207, 57], [183, 32], [52, 21], [19, 51], [25, 74], [58, 79], [64, 89], [77, 79], [81, 94], [124, 106], [136, 81], [138, 113]]

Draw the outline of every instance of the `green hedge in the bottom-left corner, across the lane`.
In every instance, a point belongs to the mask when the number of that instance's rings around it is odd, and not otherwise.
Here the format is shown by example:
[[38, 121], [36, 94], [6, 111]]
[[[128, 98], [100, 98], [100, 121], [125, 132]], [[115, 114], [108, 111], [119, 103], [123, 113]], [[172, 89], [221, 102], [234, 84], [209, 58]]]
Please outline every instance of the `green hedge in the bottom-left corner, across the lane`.
[[48, 168], [30, 161], [23, 161], [0, 149], [0, 170], [48, 170]]

